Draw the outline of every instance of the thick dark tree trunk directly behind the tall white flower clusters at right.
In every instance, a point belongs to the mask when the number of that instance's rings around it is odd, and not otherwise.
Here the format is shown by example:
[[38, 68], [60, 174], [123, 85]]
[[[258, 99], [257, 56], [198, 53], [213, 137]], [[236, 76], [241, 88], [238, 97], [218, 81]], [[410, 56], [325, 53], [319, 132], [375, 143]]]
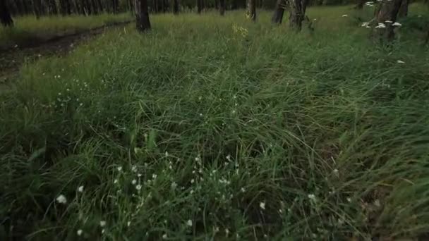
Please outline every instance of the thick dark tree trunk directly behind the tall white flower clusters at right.
[[[394, 39], [394, 26], [392, 23], [395, 23], [397, 20], [401, 2], [402, 0], [383, 0], [381, 2], [375, 16], [379, 25], [374, 28], [375, 37], [380, 39], [380, 42], [390, 42]], [[387, 23], [386, 21], [391, 21], [392, 23]]]

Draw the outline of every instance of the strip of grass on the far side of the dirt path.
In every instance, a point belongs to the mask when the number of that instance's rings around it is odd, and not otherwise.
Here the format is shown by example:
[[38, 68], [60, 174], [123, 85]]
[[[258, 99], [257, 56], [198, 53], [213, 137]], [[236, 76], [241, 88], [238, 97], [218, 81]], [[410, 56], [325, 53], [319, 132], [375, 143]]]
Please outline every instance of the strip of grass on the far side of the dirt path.
[[0, 47], [13, 47], [58, 35], [73, 34], [109, 23], [131, 20], [130, 13], [95, 16], [20, 16], [14, 18], [13, 27], [0, 27]]

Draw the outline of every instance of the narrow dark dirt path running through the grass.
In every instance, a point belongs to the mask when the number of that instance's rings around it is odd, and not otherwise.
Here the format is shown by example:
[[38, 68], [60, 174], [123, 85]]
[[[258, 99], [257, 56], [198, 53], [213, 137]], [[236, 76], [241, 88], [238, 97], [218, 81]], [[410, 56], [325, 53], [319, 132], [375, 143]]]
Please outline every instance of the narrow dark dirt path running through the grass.
[[112, 23], [70, 35], [56, 36], [43, 42], [29, 42], [20, 47], [0, 49], [0, 92], [1, 89], [7, 88], [10, 80], [16, 76], [25, 62], [35, 61], [42, 56], [68, 54], [80, 42], [101, 34], [109, 27], [120, 27], [128, 23], [131, 21]]

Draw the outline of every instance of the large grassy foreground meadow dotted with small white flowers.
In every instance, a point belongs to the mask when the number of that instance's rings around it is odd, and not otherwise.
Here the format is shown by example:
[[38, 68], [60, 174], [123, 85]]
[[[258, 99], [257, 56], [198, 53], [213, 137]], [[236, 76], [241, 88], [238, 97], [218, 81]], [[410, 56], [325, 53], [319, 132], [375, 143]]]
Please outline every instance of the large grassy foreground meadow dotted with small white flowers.
[[0, 240], [427, 235], [428, 47], [370, 41], [372, 12], [310, 8], [299, 34], [156, 15], [26, 64], [0, 96]]

